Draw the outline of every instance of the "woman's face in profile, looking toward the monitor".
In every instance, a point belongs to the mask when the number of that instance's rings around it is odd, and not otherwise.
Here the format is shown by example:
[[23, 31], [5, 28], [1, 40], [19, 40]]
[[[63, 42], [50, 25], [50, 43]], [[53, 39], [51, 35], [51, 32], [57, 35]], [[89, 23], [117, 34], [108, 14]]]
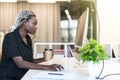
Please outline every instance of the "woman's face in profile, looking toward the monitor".
[[26, 22], [25, 30], [27, 31], [27, 33], [35, 34], [36, 30], [37, 30], [36, 25], [37, 25], [37, 18], [36, 17], [31, 17], [31, 19], [29, 19]]

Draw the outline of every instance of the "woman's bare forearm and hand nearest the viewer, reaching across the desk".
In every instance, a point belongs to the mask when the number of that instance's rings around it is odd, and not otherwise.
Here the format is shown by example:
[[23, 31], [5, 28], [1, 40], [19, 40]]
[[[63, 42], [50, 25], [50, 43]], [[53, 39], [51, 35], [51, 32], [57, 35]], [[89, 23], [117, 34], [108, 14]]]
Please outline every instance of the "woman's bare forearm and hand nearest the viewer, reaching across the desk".
[[40, 69], [40, 70], [51, 70], [55, 71], [57, 69], [61, 70], [64, 69], [59, 64], [52, 64], [52, 65], [38, 65], [35, 63], [31, 63], [22, 59], [22, 57], [13, 57], [13, 61], [19, 68], [23, 69]]

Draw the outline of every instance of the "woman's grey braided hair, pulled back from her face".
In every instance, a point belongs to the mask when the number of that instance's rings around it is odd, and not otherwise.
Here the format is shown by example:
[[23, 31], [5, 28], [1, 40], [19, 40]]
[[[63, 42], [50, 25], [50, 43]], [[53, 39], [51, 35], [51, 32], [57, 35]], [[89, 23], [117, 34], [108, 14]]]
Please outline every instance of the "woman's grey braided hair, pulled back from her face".
[[31, 16], [35, 16], [35, 13], [33, 13], [30, 10], [23, 10], [21, 11], [18, 16], [17, 19], [15, 21], [15, 24], [12, 26], [11, 31], [14, 31], [15, 29], [21, 27], [24, 23], [25, 20], [29, 20], [31, 18]]

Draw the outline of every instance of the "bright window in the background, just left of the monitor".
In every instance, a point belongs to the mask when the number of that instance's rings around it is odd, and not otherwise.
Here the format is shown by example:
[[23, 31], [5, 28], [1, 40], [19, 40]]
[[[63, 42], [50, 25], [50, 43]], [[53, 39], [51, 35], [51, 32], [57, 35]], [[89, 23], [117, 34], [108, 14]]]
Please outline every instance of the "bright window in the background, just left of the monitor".
[[68, 20], [61, 20], [61, 41], [74, 42], [77, 28], [77, 19], [69, 22]]

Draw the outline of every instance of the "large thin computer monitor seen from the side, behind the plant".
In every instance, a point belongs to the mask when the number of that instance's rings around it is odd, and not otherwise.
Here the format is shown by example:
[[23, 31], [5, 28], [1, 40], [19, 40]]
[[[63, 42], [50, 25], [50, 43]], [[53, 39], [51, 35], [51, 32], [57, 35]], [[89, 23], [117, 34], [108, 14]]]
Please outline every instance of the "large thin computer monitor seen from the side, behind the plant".
[[82, 47], [87, 41], [88, 19], [89, 19], [89, 8], [87, 7], [78, 19], [77, 32], [76, 32], [75, 45], [74, 45], [75, 52], [78, 52], [79, 47]]

